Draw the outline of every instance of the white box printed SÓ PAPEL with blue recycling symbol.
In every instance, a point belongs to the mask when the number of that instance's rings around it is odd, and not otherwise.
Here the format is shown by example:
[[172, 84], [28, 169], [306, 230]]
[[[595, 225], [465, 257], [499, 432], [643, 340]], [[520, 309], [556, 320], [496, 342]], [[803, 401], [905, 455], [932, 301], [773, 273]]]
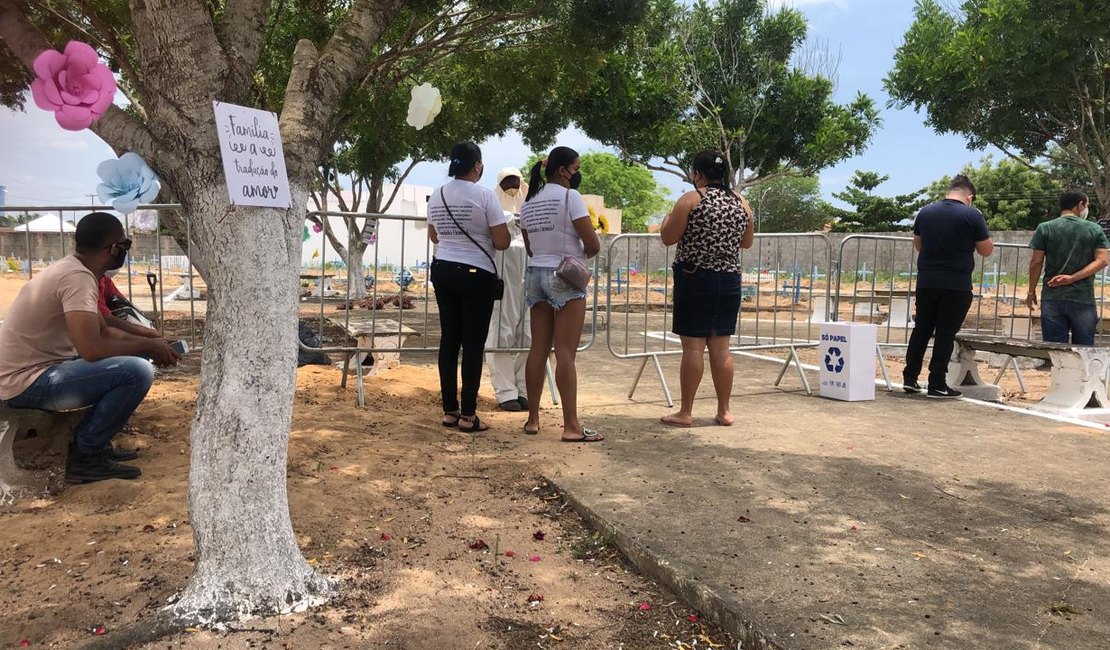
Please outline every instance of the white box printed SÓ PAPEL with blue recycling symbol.
[[875, 399], [878, 332], [878, 326], [870, 323], [821, 323], [817, 347], [821, 397], [845, 402]]

